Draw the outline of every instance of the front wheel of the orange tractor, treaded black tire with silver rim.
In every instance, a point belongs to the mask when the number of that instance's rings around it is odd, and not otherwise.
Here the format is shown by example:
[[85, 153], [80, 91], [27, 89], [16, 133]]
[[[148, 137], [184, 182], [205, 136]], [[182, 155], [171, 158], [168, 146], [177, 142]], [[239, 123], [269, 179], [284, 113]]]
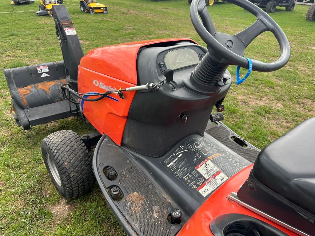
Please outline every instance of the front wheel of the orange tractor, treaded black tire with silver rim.
[[49, 176], [66, 199], [89, 193], [94, 186], [92, 157], [72, 130], [61, 130], [42, 141], [42, 155]]

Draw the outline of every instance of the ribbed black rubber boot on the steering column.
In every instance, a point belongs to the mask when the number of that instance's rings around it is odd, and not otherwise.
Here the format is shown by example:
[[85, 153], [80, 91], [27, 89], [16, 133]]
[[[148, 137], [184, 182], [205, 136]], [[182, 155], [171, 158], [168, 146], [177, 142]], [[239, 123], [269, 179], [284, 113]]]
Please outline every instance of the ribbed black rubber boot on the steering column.
[[207, 92], [216, 92], [224, 85], [223, 76], [228, 65], [219, 65], [209, 53], [201, 59], [190, 76], [191, 83]]

